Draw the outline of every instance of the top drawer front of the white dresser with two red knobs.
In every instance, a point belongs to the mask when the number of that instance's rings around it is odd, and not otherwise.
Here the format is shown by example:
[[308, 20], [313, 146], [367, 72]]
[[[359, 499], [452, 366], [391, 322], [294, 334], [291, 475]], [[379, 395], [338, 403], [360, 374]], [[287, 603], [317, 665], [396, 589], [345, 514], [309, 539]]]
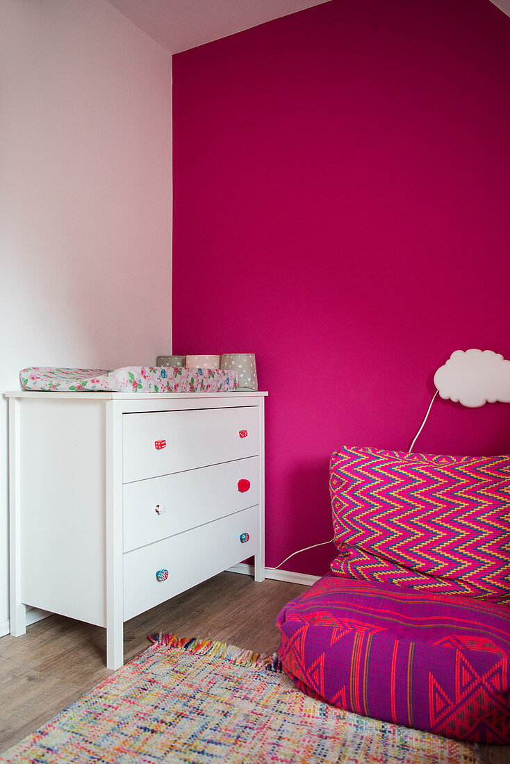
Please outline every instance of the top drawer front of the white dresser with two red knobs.
[[125, 414], [124, 482], [258, 455], [258, 411], [239, 406]]

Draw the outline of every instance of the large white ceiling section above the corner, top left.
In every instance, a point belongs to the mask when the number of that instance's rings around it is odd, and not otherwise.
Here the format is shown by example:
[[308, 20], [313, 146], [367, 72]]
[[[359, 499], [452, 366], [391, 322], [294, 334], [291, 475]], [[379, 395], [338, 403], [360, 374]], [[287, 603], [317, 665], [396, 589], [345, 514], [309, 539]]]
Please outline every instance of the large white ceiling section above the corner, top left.
[[330, 0], [109, 0], [169, 53]]

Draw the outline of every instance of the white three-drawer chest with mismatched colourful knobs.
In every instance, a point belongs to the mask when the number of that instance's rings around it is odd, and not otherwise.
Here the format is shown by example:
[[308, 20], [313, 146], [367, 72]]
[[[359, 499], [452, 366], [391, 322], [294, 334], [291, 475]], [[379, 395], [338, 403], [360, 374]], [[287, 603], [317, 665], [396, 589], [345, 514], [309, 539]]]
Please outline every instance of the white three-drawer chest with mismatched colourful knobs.
[[6, 393], [11, 634], [94, 623], [118, 669], [126, 620], [252, 555], [262, 581], [265, 394]]

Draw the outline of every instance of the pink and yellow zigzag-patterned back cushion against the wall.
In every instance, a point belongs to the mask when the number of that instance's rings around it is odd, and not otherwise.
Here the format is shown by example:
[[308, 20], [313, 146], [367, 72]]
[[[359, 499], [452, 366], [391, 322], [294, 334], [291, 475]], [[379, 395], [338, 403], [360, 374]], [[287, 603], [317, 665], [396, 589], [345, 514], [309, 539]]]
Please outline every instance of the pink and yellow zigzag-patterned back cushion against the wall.
[[336, 575], [510, 603], [510, 456], [344, 446], [330, 494]]

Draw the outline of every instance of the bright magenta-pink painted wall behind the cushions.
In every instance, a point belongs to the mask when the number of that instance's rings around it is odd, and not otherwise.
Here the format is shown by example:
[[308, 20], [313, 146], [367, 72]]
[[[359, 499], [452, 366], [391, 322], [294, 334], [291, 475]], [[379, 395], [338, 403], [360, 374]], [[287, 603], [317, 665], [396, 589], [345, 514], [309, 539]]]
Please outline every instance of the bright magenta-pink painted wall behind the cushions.
[[[451, 352], [510, 358], [509, 70], [489, 0], [333, 0], [174, 56], [174, 352], [256, 353], [268, 565], [333, 535], [334, 448], [405, 450]], [[510, 406], [437, 400], [415, 450], [510, 452]]]

